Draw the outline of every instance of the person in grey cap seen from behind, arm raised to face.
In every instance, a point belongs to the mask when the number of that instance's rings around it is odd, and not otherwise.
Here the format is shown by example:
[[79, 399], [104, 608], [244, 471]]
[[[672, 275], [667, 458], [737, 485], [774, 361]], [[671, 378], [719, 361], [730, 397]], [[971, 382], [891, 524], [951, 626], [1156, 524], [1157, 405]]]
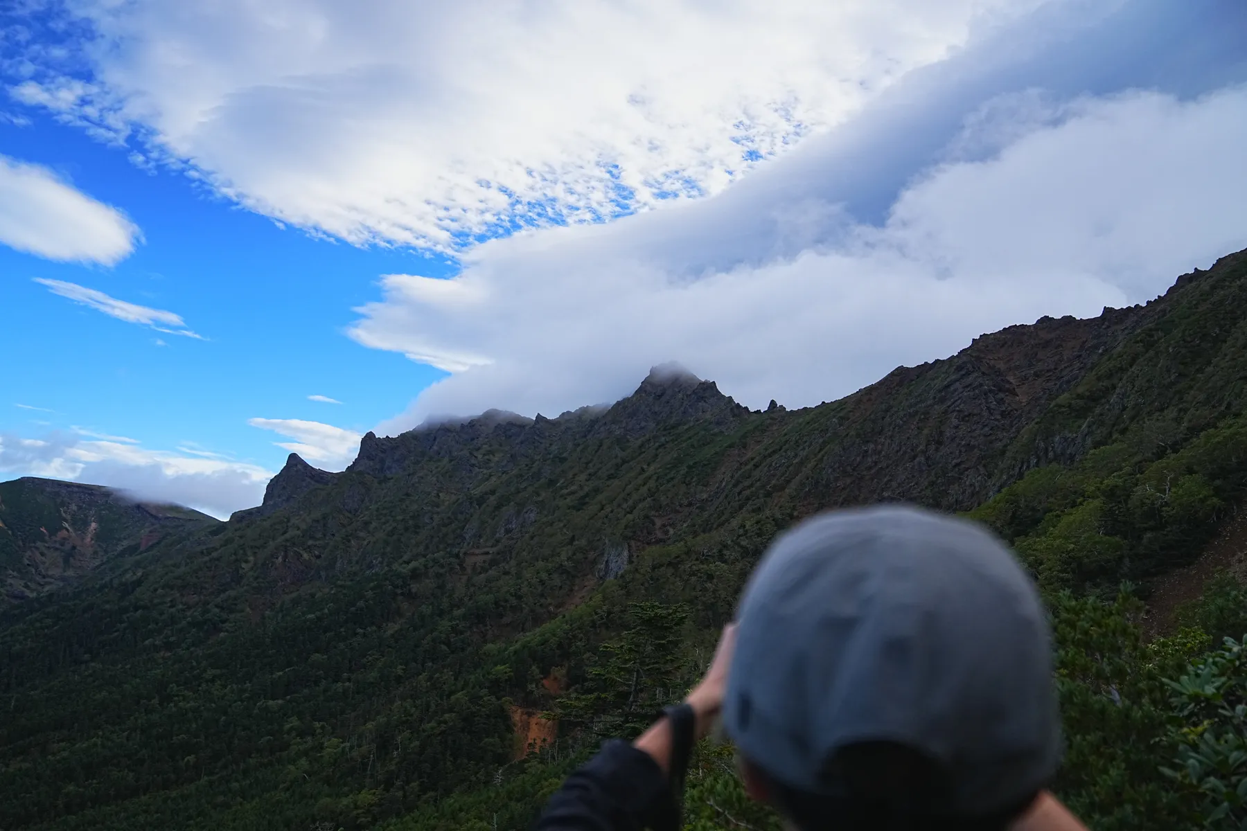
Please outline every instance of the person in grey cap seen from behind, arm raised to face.
[[706, 677], [550, 797], [541, 831], [678, 829], [716, 720], [748, 794], [802, 831], [1085, 831], [1047, 790], [1060, 721], [1047, 617], [983, 527], [908, 506], [781, 534]]

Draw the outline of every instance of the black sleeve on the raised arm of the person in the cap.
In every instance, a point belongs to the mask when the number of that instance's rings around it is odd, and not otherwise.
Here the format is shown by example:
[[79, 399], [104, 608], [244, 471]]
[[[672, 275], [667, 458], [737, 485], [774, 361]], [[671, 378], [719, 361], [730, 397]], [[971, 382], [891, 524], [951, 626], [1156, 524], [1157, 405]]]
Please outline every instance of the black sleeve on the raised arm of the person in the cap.
[[612, 739], [546, 802], [535, 831], [676, 831], [680, 812], [650, 754]]

